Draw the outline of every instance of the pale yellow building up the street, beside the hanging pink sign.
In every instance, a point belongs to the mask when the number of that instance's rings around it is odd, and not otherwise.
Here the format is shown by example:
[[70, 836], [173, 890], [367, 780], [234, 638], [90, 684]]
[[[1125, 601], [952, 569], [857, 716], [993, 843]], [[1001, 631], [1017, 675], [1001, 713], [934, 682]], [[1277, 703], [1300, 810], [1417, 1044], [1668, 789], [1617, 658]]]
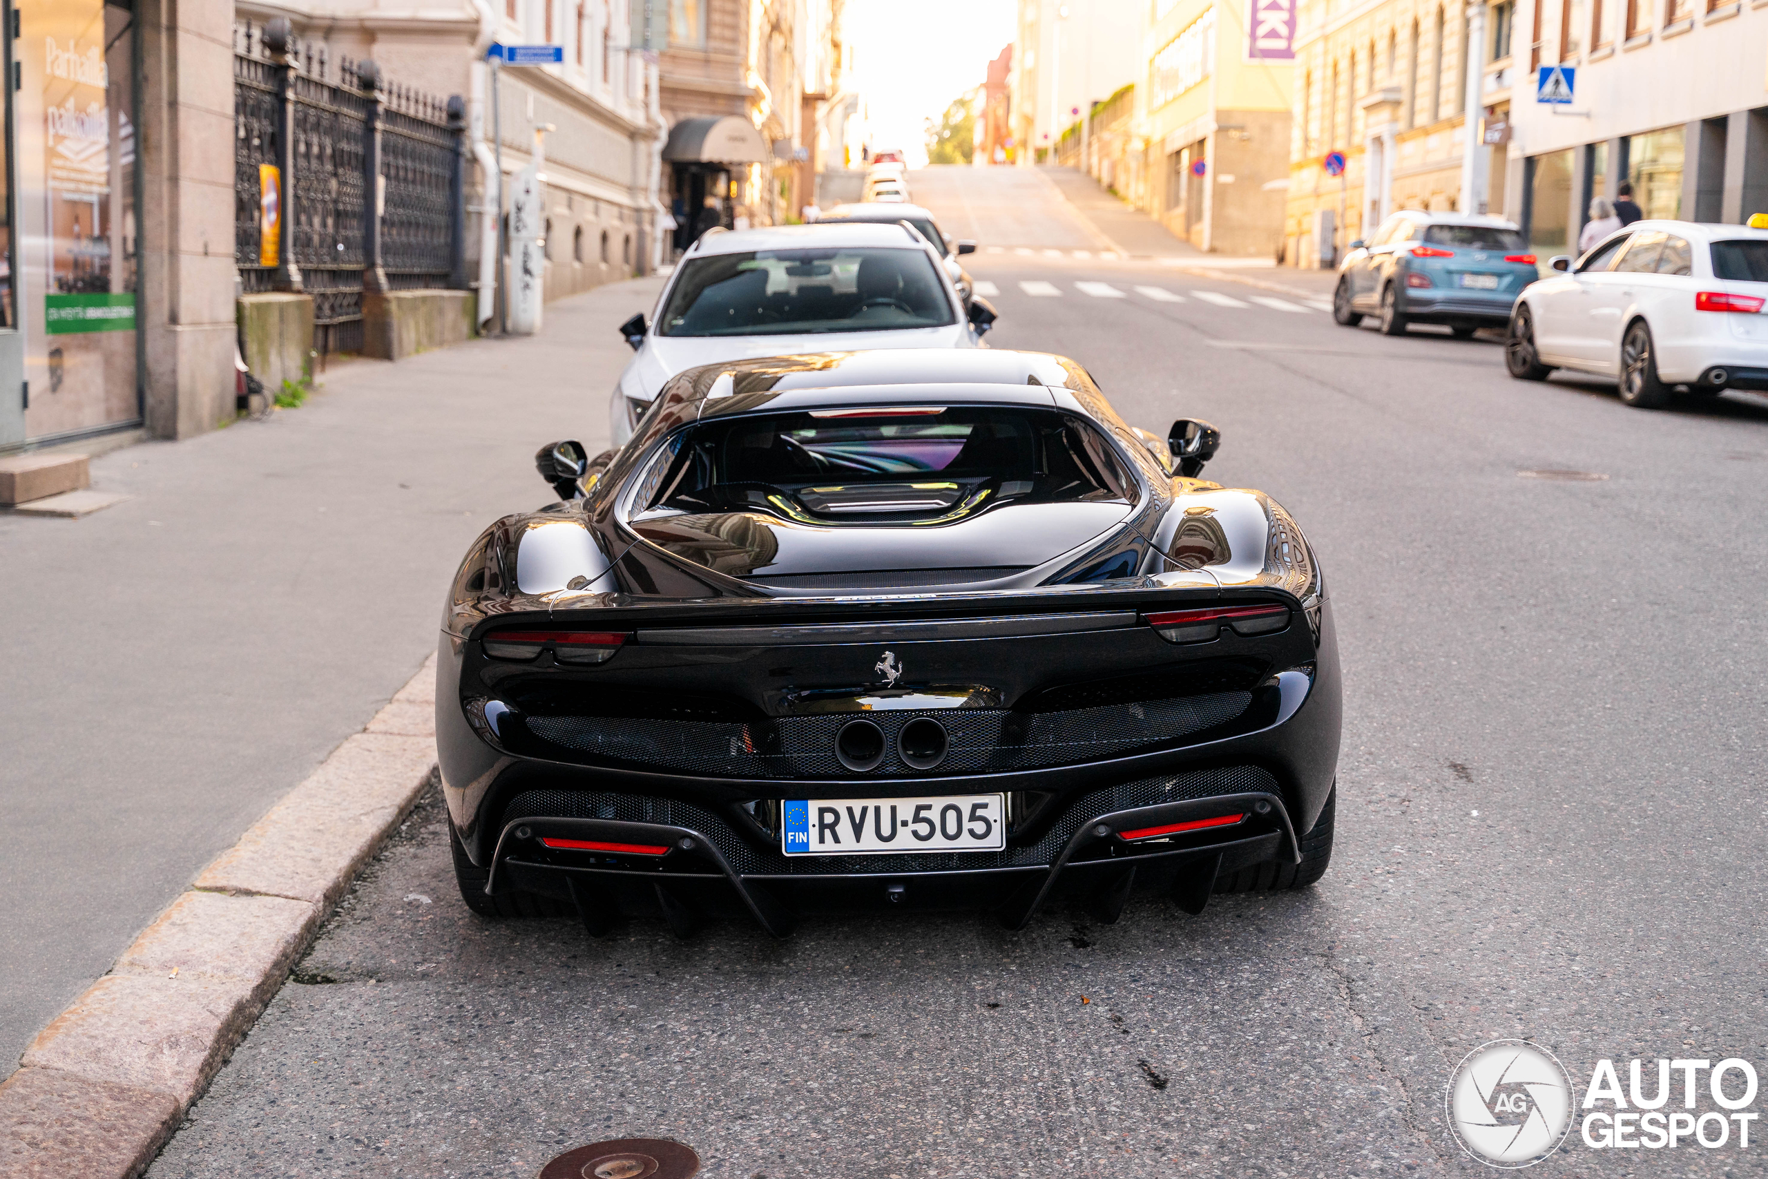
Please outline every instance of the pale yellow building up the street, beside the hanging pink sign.
[[1199, 249], [1282, 246], [1294, 2], [1144, 0], [1144, 203]]

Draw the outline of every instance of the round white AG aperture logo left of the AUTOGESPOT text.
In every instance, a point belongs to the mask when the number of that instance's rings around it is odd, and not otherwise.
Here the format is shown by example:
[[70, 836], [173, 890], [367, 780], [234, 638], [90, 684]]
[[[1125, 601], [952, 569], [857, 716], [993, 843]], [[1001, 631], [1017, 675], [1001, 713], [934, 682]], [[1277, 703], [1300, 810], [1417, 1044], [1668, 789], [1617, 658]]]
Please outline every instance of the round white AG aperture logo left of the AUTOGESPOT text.
[[1540, 1045], [1494, 1039], [1455, 1068], [1443, 1105], [1467, 1154], [1489, 1167], [1531, 1167], [1572, 1128], [1572, 1078]]

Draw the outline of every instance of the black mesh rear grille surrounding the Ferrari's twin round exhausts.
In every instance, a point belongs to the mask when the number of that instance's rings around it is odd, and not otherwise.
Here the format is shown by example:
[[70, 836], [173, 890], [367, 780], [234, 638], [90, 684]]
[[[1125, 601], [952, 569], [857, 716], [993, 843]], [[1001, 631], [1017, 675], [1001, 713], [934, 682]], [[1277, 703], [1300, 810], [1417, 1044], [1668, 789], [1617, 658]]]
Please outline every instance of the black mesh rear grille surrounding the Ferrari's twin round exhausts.
[[918, 771], [896, 757], [896, 732], [918, 716], [946, 726], [951, 751], [941, 774], [1078, 765], [1223, 725], [1252, 693], [1114, 704], [1063, 712], [934, 709], [861, 712], [884, 730], [888, 753], [856, 774], [834, 757], [834, 735], [852, 712], [781, 716], [764, 723], [663, 721], [606, 716], [530, 716], [529, 732], [596, 758], [642, 762], [720, 778], [900, 778]]

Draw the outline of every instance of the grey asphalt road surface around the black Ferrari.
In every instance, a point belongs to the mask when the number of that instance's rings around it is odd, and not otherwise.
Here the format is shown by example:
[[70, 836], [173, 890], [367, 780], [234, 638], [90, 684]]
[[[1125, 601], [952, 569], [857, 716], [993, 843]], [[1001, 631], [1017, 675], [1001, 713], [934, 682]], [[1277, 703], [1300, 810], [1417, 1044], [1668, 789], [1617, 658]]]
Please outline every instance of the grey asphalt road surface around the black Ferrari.
[[[1002, 171], [955, 179], [962, 216], [1066, 217], [990, 205], [1027, 200]], [[1345, 665], [1326, 879], [1018, 935], [863, 914], [592, 940], [467, 914], [431, 801], [156, 1179], [534, 1175], [613, 1137], [679, 1138], [718, 1179], [1483, 1174], [1443, 1087], [1485, 1041], [1545, 1045], [1579, 1092], [1604, 1057], [1768, 1071], [1768, 403], [1630, 410], [1510, 380], [1492, 339], [1002, 244], [972, 260], [994, 343], [1080, 359], [1151, 430], [1213, 421], [1209, 474], [1319, 550]], [[1574, 1130], [1531, 1174], [1759, 1175], [1764, 1151]]]

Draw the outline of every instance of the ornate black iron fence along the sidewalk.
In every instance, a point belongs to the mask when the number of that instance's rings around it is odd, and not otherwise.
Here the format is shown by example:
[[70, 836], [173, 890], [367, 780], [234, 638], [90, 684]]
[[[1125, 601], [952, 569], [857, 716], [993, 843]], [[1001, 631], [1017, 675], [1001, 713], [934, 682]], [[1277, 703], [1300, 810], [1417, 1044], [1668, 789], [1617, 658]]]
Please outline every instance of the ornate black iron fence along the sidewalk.
[[[320, 352], [362, 348], [364, 292], [465, 286], [461, 99], [389, 85], [368, 60], [332, 69], [283, 18], [242, 25], [233, 48], [240, 286], [313, 295]], [[281, 177], [272, 251], [262, 164]]]

